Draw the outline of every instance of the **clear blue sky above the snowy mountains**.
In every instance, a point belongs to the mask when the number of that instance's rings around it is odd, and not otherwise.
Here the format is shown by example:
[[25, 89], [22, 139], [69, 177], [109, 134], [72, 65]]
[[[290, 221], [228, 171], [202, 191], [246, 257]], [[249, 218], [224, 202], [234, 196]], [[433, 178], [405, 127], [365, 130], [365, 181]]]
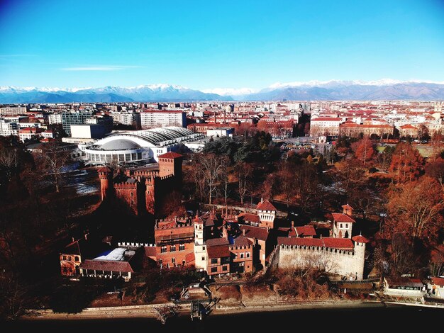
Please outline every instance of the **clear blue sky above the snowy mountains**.
[[444, 81], [444, 1], [0, 0], [0, 86]]

